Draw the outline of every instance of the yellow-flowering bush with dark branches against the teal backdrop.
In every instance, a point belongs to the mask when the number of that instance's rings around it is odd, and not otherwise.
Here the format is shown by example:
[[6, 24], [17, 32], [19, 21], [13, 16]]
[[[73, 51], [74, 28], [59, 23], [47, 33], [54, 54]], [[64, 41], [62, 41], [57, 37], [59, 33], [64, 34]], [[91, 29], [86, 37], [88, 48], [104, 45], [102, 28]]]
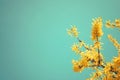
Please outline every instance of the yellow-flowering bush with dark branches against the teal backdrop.
[[[72, 46], [72, 51], [80, 55], [79, 60], [72, 60], [74, 72], [81, 72], [85, 68], [92, 68], [95, 70], [93, 75], [86, 80], [120, 80], [120, 44], [111, 35], [108, 39], [118, 50], [118, 56], [114, 57], [111, 62], [105, 62], [101, 50], [100, 37], [103, 35], [102, 31], [102, 18], [98, 17], [92, 21], [91, 38], [93, 45], [88, 46], [85, 42], [78, 37], [79, 32], [76, 26], [72, 26], [67, 30], [68, 34], [75, 37], [78, 42]], [[120, 29], [120, 19], [114, 22], [106, 21], [107, 28]], [[84, 47], [85, 51], [81, 51]]]

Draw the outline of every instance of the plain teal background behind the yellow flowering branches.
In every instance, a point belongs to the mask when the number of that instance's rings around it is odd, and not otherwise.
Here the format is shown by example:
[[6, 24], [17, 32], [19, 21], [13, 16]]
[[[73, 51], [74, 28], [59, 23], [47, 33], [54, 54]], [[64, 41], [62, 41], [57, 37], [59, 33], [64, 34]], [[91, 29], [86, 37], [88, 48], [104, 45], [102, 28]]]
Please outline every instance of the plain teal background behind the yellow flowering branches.
[[[119, 0], [0, 0], [0, 80], [85, 80], [72, 70], [76, 55], [71, 45], [77, 40], [66, 29], [76, 25], [80, 39], [91, 44], [92, 18], [120, 18]], [[103, 26], [101, 51], [106, 61], [117, 55], [107, 39], [119, 31]]]

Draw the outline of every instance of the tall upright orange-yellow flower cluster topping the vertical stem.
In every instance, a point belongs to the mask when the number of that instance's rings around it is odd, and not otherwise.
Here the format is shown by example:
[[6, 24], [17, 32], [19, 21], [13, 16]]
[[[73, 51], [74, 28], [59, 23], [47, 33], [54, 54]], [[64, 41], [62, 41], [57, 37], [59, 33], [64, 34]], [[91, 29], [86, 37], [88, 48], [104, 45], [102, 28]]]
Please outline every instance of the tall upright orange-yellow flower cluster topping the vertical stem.
[[97, 40], [102, 35], [102, 18], [98, 17], [92, 22], [92, 40]]

